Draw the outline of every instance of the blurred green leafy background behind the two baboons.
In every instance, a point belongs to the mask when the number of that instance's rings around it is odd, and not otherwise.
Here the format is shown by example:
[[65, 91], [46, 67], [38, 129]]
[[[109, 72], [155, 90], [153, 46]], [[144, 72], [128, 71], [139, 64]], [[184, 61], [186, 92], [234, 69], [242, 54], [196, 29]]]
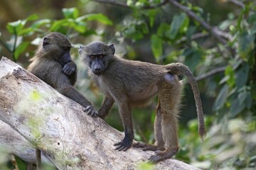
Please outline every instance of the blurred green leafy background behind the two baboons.
[[[87, 77], [77, 47], [114, 42], [129, 60], [183, 62], [196, 75], [208, 136], [197, 133], [191, 87], [184, 86], [179, 159], [201, 169], [256, 168], [256, 2], [250, 0], [1, 1], [1, 56], [26, 68], [39, 40], [58, 31], [73, 42], [76, 88], [100, 108], [102, 94]], [[18, 8], [17, 8], [18, 6]], [[154, 142], [154, 108], [133, 110], [136, 139]], [[142, 114], [143, 113], [143, 114]], [[116, 106], [107, 123], [122, 130]], [[6, 160], [3, 169], [13, 169]], [[18, 158], [17, 158], [18, 159]], [[18, 164], [25, 169], [22, 161]], [[26, 165], [26, 164], [25, 164]], [[149, 166], [142, 165], [142, 169]]]

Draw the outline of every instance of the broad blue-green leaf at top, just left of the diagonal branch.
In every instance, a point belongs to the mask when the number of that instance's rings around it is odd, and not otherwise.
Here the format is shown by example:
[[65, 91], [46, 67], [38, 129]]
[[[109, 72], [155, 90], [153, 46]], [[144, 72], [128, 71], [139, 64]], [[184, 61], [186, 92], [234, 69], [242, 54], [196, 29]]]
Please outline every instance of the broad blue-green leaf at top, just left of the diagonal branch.
[[171, 22], [171, 30], [169, 31], [169, 38], [171, 38], [171, 40], [176, 38], [178, 31], [183, 28], [183, 25], [187, 22], [186, 20], [185, 13], [174, 16], [173, 21]]

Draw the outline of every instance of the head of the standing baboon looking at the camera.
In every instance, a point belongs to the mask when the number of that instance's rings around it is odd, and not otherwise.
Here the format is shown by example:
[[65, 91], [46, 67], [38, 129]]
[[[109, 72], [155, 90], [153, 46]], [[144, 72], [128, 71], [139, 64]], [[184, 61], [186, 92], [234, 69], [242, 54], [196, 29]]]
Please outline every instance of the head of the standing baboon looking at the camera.
[[79, 53], [82, 60], [92, 70], [93, 74], [99, 76], [107, 68], [107, 64], [114, 57], [114, 45], [106, 45], [103, 42], [92, 42], [80, 47]]

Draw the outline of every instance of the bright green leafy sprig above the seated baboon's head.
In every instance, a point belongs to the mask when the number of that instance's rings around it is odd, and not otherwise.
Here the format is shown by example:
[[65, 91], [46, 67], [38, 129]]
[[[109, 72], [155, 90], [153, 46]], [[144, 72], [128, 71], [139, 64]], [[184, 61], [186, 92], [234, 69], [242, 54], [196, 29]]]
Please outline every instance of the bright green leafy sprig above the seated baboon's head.
[[[1, 40], [1, 42], [6, 47], [6, 50], [11, 52], [15, 62], [26, 51], [30, 43], [38, 45], [38, 39], [31, 42], [24, 40], [35, 33], [60, 32], [68, 34], [75, 32], [76, 36], [78, 36], [77, 33], [87, 36], [97, 34], [95, 30], [88, 26], [88, 21], [99, 21], [105, 25], [112, 25], [112, 21], [107, 16], [102, 15], [102, 13], [90, 13], [80, 16], [78, 8], [63, 8], [62, 12], [64, 18], [60, 20], [39, 19], [38, 15], [33, 14], [26, 19], [7, 24], [6, 28], [11, 34], [11, 39], [6, 42]], [[70, 35], [70, 37], [75, 35]]]

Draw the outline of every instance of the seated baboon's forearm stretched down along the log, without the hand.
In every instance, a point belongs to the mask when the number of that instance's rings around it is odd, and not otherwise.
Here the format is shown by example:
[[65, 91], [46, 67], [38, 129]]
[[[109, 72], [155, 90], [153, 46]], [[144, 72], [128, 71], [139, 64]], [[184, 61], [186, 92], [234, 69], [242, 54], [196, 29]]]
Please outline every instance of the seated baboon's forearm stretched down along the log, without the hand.
[[60, 87], [57, 89], [60, 94], [63, 94], [64, 96], [71, 98], [73, 101], [76, 101], [80, 105], [87, 108], [87, 106], [92, 106], [92, 103], [88, 101], [85, 96], [82, 96], [79, 91], [77, 91], [73, 86], [70, 84], [66, 84], [63, 87]]

